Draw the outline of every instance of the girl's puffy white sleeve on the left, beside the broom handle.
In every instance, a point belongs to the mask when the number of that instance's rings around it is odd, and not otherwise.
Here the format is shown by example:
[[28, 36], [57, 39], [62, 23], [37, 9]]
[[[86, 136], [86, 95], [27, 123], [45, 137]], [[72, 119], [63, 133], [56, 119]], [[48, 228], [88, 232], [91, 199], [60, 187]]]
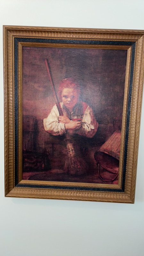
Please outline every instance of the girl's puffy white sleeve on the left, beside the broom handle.
[[44, 118], [44, 130], [52, 135], [62, 135], [65, 133], [65, 124], [59, 123], [59, 111], [56, 105], [53, 106], [47, 118]]

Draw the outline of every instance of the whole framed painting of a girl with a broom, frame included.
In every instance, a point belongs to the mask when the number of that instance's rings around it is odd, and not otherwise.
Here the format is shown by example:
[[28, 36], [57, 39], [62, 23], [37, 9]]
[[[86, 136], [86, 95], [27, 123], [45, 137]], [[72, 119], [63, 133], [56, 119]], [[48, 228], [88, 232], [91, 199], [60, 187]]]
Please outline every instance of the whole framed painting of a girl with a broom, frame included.
[[4, 26], [5, 196], [134, 203], [144, 31]]

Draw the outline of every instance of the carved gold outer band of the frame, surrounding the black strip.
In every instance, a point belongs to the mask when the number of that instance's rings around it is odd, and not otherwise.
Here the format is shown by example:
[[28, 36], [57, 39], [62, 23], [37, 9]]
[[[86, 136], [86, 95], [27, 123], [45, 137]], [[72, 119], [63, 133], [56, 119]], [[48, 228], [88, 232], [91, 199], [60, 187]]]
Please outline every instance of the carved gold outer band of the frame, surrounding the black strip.
[[[14, 30], [15, 29], [15, 30]], [[22, 31], [23, 30], [23, 31]], [[25, 31], [24, 31], [25, 30]], [[132, 146], [130, 162], [129, 175], [128, 175], [128, 194], [124, 193], [107, 193], [107, 192], [77, 192], [77, 191], [60, 191], [60, 190], [49, 190], [49, 189], [29, 189], [29, 188], [13, 188], [14, 184], [14, 170], [13, 170], [13, 122], [14, 122], [14, 102], [13, 102], [13, 65], [12, 65], [12, 36], [30, 36], [30, 30], [35, 30], [36, 36], [46, 37], [46, 31], [50, 31], [50, 34], [56, 34], [56, 32], [68, 32], [69, 38], [78, 38], [79, 32], [81, 32], [83, 38], [92, 38], [91, 34], [103, 33], [99, 38], [106, 39], [106, 34], [110, 33], [110, 40], [113, 38], [118, 40], [116, 33], [119, 33], [120, 40], [138, 40], [137, 48], [137, 61], [135, 66], [135, 77], [134, 77], [134, 92], [132, 96], [132, 116], [130, 123], [130, 146]], [[44, 31], [45, 30], [45, 31]], [[87, 33], [85, 33], [87, 32]], [[105, 33], [105, 34], [104, 34]], [[52, 38], [52, 35], [50, 37]], [[61, 38], [64, 38], [64, 33], [62, 33]], [[131, 37], [129, 34], [132, 34]], [[135, 183], [136, 183], [136, 167], [138, 159], [138, 144], [139, 144], [139, 134], [140, 134], [140, 113], [141, 113], [141, 103], [142, 103], [142, 90], [143, 90], [143, 75], [144, 75], [144, 62], [142, 58], [144, 57], [144, 43], [143, 38], [144, 30], [108, 30], [108, 29], [79, 29], [79, 28], [41, 28], [41, 27], [20, 27], [20, 26], [4, 26], [4, 145], [5, 145], [5, 195], [8, 197], [27, 197], [27, 198], [49, 198], [49, 199], [71, 199], [71, 200], [89, 200], [89, 201], [104, 201], [104, 202], [119, 202], [119, 203], [134, 203], [135, 194]], [[64, 34], [65, 35], [65, 34]], [[35, 35], [34, 35], [35, 36]], [[113, 37], [114, 36], [114, 37]], [[57, 35], [55, 35], [57, 37]], [[93, 36], [94, 37], [94, 36]], [[81, 38], [81, 37], [79, 37]], [[96, 39], [97, 37], [95, 37]], [[126, 39], [125, 39], [126, 38]], [[136, 85], [135, 85], [136, 84]], [[136, 91], [136, 92], [135, 92]], [[134, 107], [133, 107], [134, 106]], [[138, 124], [137, 124], [138, 121]], [[133, 124], [132, 124], [133, 122]], [[132, 131], [132, 133], [131, 133]], [[133, 157], [133, 159], [132, 159]], [[63, 193], [65, 195], [63, 196]], [[131, 196], [130, 196], [130, 195]], [[83, 195], [83, 196], [82, 196]]]

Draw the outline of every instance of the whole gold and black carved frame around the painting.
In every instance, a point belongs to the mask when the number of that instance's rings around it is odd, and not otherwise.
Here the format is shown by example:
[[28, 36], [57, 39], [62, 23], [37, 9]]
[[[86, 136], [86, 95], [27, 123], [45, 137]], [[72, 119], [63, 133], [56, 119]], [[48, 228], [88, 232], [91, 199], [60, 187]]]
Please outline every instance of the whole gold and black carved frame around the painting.
[[[28, 38], [31, 42], [24, 40]], [[52, 40], [47, 43], [44, 39]], [[93, 43], [89, 44], [90, 41]], [[95, 45], [96, 42], [101, 43]], [[22, 180], [22, 46], [48, 44], [49, 47], [127, 49], [118, 185]], [[134, 203], [143, 79], [144, 30], [4, 26], [5, 196]]]

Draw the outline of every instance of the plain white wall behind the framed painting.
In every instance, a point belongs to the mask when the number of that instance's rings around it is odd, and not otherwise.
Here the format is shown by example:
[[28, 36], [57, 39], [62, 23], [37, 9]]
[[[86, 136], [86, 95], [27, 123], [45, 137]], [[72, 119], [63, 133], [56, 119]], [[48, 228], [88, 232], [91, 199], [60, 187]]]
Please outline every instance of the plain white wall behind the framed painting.
[[4, 198], [2, 25], [144, 29], [144, 1], [0, 1], [0, 255], [143, 256], [144, 102], [135, 204]]

